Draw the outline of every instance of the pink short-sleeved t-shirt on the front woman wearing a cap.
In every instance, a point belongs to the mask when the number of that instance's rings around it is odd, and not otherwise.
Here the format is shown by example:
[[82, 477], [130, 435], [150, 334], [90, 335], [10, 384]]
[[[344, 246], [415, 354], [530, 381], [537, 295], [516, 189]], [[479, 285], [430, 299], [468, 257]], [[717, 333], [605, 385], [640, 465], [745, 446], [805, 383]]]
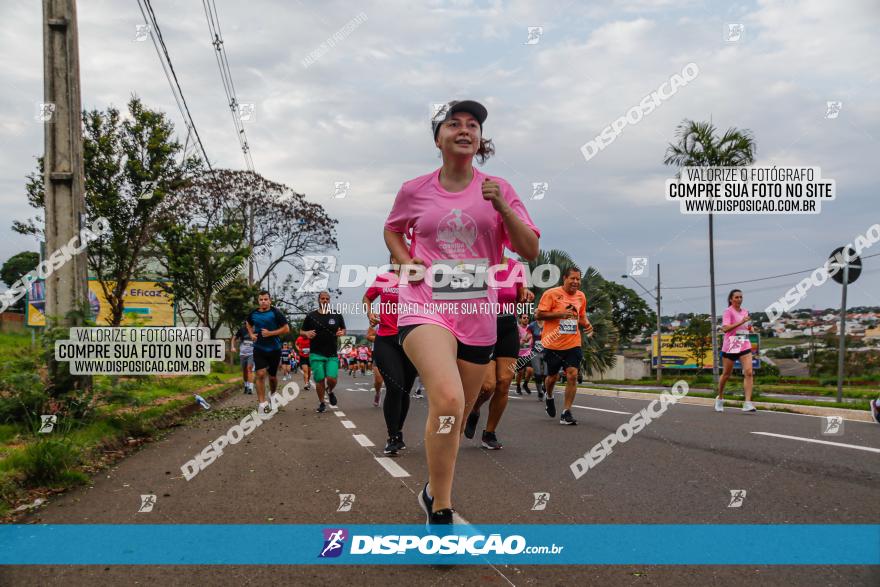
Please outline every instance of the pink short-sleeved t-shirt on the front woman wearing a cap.
[[[500, 177], [474, 168], [470, 185], [459, 193], [451, 193], [440, 185], [439, 176], [440, 170], [435, 169], [404, 183], [385, 221], [386, 229], [402, 233], [412, 241], [410, 256], [424, 260], [427, 267], [453, 266], [455, 263], [449, 263], [452, 260], [492, 266], [500, 263], [504, 249], [510, 248], [501, 215], [483, 199], [481, 185], [486, 178], [500, 184], [502, 197], [540, 236], [513, 187]], [[426, 273], [422, 281], [400, 284], [398, 326], [436, 324], [464, 344], [495, 344], [496, 316], [480, 311], [481, 304], [494, 306], [498, 301], [497, 291], [489, 287], [488, 279], [477, 285], [465, 279], [450, 287], [435, 288], [429, 279]]]

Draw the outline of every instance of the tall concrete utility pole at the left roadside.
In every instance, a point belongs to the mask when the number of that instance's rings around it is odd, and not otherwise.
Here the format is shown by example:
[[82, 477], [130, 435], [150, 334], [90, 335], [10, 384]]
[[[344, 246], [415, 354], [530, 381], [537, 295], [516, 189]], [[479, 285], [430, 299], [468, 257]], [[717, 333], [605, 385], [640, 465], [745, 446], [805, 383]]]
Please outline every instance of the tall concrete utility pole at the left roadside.
[[[43, 95], [46, 252], [51, 254], [79, 234], [85, 223], [76, 0], [43, 0]], [[85, 253], [74, 255], [46, 279], [47, 319], [75, 325], [70, 312], [88, 307], [87, 265]], [[59, 385], [58, 377], [64, 376], [54, 361], [49, 372]], [[90, 380], [74, 379], [70, 383], [76, 387]]]

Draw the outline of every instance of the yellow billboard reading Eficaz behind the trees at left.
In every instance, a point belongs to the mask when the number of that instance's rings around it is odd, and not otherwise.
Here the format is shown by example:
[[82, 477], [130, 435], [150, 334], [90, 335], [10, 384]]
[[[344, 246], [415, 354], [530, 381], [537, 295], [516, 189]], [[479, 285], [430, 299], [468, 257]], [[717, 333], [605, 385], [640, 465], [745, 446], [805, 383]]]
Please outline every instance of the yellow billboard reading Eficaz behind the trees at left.
[[[131, 281], [125, 290], [122, 326], [174, 326], [174, 299], [162, 291], [156, 281]], [[89, 306], [92, 317], [100, 326], [110, 324], [110, 303], [104, 296], [101, 282], [89, 280]], [[27, 296], [27, 325], [45, 326], [46, 284], [35, 281]]]

